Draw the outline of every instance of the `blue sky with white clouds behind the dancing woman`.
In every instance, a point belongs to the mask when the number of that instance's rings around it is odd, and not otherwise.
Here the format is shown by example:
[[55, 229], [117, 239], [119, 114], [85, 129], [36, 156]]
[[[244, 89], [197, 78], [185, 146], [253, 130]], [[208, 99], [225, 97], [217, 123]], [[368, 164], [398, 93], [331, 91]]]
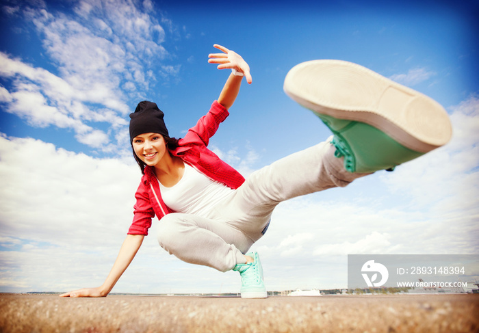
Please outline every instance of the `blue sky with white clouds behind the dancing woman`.
[[[478, 5], [460, 3], [3, 0], [0, 291], [103, 282], [140, 180], [128, 114], [155, 101], [184, 135], [229, 75], [207, 63], [214, 43], [253, 75], [211, 141], [245, 176], [328, 137], [283, 93], [307, 60], [371, 68], [435, 98], [453, 124], [450, 144], [394, 172], [281, 204], [254, 247], [268, 290], [346, 287], [347, 254], [478, 254]], [[236, 274], [169, 256], [153, 226], [114, 291], [238, 288]]]

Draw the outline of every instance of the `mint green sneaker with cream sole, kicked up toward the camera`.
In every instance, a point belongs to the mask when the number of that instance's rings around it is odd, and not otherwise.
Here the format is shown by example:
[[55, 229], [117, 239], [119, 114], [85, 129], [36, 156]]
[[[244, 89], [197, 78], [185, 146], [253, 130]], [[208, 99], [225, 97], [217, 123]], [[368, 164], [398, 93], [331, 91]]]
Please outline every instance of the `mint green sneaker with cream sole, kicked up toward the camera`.
[[341, 60], [294, 66], [284, 90], [333, 131], [349, 172], [393, 170], [443, 146], [452, 135], [436, 101], [372, 70]]

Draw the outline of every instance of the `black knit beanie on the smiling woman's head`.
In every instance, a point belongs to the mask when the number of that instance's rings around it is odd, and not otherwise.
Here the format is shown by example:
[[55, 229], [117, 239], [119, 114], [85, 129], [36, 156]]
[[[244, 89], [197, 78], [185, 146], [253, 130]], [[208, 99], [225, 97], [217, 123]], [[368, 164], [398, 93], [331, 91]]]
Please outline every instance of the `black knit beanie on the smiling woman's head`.
[[155, 103], [148, 101], [138, 103], [135, 112], [130, 114], [130, 143], [133, 142], [133, 137], [143, 133], [159, 133], [169, 137], [163, 120], [164, 115]]

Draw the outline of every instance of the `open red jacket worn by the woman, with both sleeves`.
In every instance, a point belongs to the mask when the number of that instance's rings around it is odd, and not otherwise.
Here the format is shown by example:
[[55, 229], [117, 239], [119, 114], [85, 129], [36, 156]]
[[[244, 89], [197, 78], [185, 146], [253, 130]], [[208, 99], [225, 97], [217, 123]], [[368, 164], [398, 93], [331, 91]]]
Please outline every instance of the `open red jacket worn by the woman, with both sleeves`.
[[[244, 177], [207, 148], [209, 138], [216, 133], [220, 123], [228, 116], [228, 110], [218, 101], [214, 101], [209, 112], [188, 130], [183, 139], [179, 140], [179, 147], [170, 152], [214, 181], [237, 189], [244, 183]], [[128, 230], [129, 235], [148, 235], [151, 219], [155, 215], [161, 219], [164, 215], [173, 212], [161, 199], [158, 180], [153, 168], [148, 165], [144, 170], [135, 198], [136, 203], [133, 207], [135, 216]]]

